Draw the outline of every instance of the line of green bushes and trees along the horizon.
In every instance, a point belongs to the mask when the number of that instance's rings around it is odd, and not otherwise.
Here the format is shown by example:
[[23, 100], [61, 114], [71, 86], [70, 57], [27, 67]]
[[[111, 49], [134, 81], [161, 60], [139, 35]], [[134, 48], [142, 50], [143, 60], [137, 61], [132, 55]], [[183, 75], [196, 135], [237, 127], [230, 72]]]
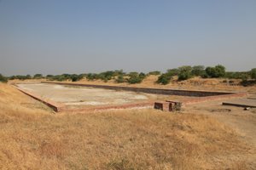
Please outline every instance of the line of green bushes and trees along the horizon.
[[128, 82], [130, 84], [143, 82], [143, 79], [149, 75], [158, 76], [156, 81], [159, 84], [166, 85], [171, 82], [173, 77], [177, 77], [178, 81], [188, 80], [192, 77], [202, 78], [228, 78], [228, 79], [241, 79], [246, 82], [248, 79], [256, 80], [256, 68], [251, 71], [226, 71], [224, 65], [215, 65], [205, 67], [204, 65], [183, 65], [178, 68], [169, 69], [165, 73], [160, 71], [150, 71], [147, 74], [143, 72], [129, 72], [125, 73], [123, 70], [116, 71], [104, 71], [101, 73], [87, 73], [87, 74], [61, 74], [61, 75], [47, 75], [35, 74], [34, 76], [16, 75], [12, 77], [3, 77], [0, 74], [0, 82], [8, 82], [8, 80], [28, 80], [28, 79], [42, 79], [45, 78], [49, 81], [72, 81], [78, 82], [79, 80], [86, 78], [89, 81], [102, 80], [108, 82], [114, 80], [117, 83]]

